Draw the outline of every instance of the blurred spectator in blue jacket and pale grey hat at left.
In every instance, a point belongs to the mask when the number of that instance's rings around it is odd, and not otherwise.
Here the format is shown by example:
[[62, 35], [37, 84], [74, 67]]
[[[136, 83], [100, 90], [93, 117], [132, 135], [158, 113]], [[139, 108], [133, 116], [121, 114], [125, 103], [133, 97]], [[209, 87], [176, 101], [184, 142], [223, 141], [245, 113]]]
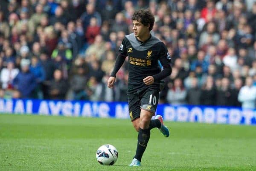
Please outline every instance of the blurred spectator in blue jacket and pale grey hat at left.
[[21, 59], [21, 71], [13, 80], [13, 87], [20, 91], [21, 97], [25, 99], [33, 97], [32, 93], [37, 86], [35, 76], [29, 70], [29, 64], [29, 59]]

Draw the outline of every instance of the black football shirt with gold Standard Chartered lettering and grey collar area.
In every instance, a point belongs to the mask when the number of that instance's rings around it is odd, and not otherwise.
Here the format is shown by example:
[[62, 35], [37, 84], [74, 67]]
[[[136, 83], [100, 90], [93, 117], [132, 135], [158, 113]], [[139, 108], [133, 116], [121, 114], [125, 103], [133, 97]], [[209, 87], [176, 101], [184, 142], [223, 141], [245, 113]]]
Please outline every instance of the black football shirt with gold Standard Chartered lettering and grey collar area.
[[[161, 72], [162, 66], [171, 65], [171, 57], [165, 44], [154, 36], [145, 41], [139, 41], [134, 33], [126, 35], [119, 48], [119, 55], [128, 57], [128, 91], [147, 87], [143, 79]], [[149, 86], [159, 87], [160, 80], [155, 80]]]

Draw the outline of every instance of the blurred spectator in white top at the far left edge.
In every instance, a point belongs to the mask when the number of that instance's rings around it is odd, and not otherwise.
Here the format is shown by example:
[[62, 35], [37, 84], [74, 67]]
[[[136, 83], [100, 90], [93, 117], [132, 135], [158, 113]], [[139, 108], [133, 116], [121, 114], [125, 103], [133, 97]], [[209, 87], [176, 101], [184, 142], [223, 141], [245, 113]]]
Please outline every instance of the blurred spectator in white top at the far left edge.
[[19, 73], [19, 70], [15, 68], [14, 62], [9, 61], [7, 67], [3, 68], [0, 72], [1, 87], [3, 89], [13, 89], [13, 79]]

